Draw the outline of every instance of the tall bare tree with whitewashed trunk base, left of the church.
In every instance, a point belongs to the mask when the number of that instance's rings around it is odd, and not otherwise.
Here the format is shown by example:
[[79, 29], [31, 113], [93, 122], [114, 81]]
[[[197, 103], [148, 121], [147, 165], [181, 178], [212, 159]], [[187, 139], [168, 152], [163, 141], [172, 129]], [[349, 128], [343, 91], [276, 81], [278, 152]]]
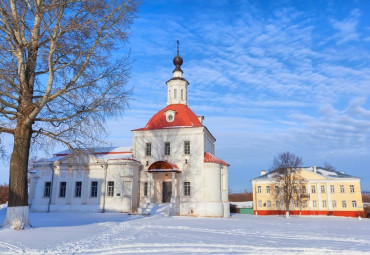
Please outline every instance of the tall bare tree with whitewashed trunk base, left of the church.
[[[12, 135], [4, 225], [29, 225], [31, 141], [88, 147], [126, 107], [128, 38], [138, 0], [1, 0], [0, 135]], [[124, 54], [123, 54], [124, 55]]]

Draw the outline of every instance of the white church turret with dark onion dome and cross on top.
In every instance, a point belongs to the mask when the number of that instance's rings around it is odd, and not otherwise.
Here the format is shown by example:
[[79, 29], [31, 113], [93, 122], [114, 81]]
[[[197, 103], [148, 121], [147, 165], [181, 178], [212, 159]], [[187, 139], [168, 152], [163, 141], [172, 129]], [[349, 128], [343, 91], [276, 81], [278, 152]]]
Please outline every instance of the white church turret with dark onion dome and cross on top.
[[184, 62], [180, 56], [180, 43], [177, 40], [177, 55], [173, 59], [175, 70], [172, 78], [167, 81], [167, 105], [185, 104], [187, 105], [187, 86], [189, 82], [182, 77], [181, 65]]

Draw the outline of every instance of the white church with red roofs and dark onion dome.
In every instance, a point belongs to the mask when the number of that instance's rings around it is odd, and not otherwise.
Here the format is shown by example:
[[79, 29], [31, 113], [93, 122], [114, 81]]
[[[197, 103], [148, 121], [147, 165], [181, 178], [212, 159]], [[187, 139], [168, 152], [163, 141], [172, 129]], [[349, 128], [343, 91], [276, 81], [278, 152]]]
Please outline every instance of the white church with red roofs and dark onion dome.
[[79, 156], [64, 151], [36, 163], [32, 211], [146, 214], [165, 204], [169, 215], [229, 217], [229, 164], [215, 156], [216, 139], [204, 117], [188, 107], [178, 51], [173, 63], [167, 106], [132, 131], [132, 147], [94, 148]]

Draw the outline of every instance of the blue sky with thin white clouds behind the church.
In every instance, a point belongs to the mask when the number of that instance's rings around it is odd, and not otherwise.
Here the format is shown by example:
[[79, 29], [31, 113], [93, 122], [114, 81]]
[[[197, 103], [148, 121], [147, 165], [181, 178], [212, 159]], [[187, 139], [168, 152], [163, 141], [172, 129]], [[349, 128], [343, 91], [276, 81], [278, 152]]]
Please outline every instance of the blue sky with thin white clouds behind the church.
[[369, 15], [369, 1], [146, 1], [121, 52], [132, 60], [130, 109], [107, 123], [108, 141], [131, 145], [131, 130], [166, 105], [180, 40], [189, 106], [231, 164], [233, 191], [285, 151], [370, 191]]

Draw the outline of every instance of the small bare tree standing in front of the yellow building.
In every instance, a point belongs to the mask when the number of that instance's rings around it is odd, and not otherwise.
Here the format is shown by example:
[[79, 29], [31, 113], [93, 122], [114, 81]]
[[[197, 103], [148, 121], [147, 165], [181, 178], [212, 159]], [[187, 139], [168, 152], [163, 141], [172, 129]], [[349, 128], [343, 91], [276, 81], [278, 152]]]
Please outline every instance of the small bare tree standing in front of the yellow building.
[[305, 182], [300, 174], [301, 166], [302, 158], [290, 152], [275, 156], [272, 164], [273, 194], [284, 206], [287, 218], [291, 203], [298, 203]]

